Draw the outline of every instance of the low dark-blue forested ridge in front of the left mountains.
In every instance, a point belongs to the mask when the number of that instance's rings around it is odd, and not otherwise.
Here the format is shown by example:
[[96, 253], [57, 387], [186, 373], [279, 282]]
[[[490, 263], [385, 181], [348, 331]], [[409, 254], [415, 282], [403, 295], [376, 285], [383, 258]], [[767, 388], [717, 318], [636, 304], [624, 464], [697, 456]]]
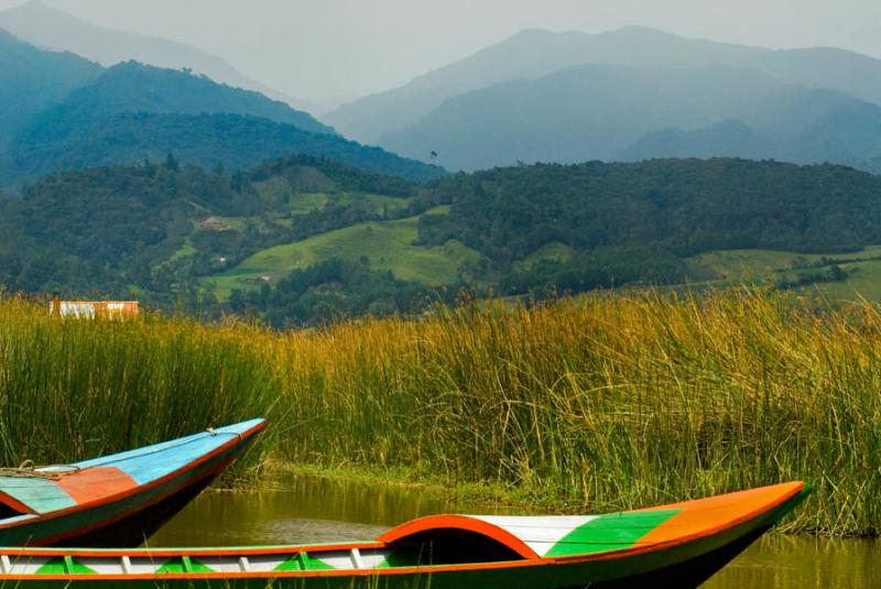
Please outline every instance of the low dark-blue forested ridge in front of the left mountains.
[[[64, 129], [64, 133], [57, 133]], [[36, 178], [58, 170], [160, 161], [174, 152], [182, 161], [235, 172], [280, 154], [335, 157], [363, 170], [413, 181], [444, 175], [443, 168], [406, 160], [339, 135], [311, 133], [269, 119], [239, 114], [121, 113], [41, 126], [0, 153], [0, 183]]]

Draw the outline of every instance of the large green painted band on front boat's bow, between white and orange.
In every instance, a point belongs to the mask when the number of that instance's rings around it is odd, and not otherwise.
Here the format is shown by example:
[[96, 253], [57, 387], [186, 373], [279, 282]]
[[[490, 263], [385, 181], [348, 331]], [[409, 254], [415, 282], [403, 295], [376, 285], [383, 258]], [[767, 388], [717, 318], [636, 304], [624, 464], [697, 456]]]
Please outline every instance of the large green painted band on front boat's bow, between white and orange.
[[574, 556], [630, 548], [649, 532], [682, 510], [657, 510], [600, 515], [576, 527], [554, 544], [546, 556]]

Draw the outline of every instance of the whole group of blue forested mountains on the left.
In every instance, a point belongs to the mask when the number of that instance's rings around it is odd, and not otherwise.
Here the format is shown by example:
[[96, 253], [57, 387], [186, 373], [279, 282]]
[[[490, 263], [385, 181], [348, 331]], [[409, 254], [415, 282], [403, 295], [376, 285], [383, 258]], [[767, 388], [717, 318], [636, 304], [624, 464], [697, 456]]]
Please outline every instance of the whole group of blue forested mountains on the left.
[[440, 168], [345, 140], [312, 116], [206, 76], [135, 62], [110, 68], [0, 31], [0, 185], [174, 153], [239, 170], [293, 153], [424, 181]]

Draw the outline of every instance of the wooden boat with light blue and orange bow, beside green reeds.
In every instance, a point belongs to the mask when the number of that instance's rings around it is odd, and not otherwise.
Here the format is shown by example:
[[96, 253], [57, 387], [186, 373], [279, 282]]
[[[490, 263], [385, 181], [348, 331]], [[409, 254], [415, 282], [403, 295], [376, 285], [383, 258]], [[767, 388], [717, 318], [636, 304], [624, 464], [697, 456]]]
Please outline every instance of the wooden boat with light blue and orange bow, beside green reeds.
[[138, 546], [235, 460], [263, 419], [68, 466], [0, 471], [0, 546]]

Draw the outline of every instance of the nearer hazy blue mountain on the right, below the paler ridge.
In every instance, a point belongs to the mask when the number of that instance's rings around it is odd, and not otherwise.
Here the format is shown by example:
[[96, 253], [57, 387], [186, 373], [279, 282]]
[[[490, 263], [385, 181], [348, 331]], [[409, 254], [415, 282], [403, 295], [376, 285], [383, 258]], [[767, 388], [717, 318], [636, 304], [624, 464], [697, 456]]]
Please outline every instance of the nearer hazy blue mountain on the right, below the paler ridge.
[[872, 170], [881, 107], [751, 69], [586, 65], [453, 98], [384, 144], [467, 171], [717, 155]]

